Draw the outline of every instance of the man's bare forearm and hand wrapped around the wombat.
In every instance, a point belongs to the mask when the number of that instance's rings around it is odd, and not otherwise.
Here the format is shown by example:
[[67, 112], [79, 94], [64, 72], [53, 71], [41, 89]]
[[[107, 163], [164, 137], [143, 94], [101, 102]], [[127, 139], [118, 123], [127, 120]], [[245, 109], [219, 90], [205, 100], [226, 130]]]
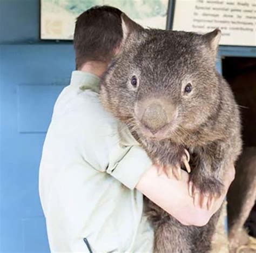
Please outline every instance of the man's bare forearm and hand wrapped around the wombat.
[[152, 166], [140, 178], [136, 188], [180, 223], [203, 226], [223, 203], [228, 187], [234, 179], [234, 166], [227, 170], [225, 193], [214, 202], [210, 210], [194, 206], [193, 198], [188, 194], [189, 175], [183, 170], [181, 173], [182, 179], [177, 180], [174, 177], [167, 177], [166, 174], [158, 175], [157, 168]]

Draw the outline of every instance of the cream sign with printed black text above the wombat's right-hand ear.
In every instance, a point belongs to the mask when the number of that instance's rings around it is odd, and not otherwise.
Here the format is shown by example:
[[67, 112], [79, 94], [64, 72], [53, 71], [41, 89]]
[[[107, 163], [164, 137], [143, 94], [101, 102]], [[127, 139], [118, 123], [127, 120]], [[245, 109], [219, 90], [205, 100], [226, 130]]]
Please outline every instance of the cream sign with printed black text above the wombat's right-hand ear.
[[256, 46], [255, 0], [172, 0], [172, 30], [206, 33], [219, 28], [220, 45]]

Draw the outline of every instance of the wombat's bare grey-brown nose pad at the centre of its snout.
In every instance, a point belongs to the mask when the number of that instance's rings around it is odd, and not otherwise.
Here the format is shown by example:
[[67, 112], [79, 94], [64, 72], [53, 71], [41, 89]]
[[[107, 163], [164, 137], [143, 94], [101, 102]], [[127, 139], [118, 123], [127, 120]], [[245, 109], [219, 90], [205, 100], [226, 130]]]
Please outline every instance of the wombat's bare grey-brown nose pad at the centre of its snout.
[[152, 104], [146, 107], [142, 116], [142, 122], [152, 133], [156, 133], [168, 123], [168, 117], [162, 105], [158, 102], [152, 102]]

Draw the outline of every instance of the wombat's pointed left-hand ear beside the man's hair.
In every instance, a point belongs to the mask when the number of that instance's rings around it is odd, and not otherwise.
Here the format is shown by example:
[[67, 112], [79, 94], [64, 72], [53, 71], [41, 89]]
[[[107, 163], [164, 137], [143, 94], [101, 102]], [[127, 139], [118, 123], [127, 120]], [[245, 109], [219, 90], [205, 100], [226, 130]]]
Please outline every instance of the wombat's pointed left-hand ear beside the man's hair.
[[135, 42], [139, 41], [144, 28], [134, 22], [132, 19], [127, 17], [125, 13], [121, 15], [122, 19], [122, 30], [123, 30], [123, 39], [120, 43], [118, 54], [123, 51], [124, 47], [129, 46], [129, 41]]

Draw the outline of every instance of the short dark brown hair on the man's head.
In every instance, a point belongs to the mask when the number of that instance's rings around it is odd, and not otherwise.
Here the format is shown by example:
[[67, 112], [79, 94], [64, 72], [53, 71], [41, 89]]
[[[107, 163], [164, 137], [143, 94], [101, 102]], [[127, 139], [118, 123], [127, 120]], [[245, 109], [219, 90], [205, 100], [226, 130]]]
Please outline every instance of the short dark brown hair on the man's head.
[[76, 21], [74, 47], [76, 69], [86, 61], [109, 61], [122, 37], [121, 14], [111, 6], [95, 6], [83, 12]]

